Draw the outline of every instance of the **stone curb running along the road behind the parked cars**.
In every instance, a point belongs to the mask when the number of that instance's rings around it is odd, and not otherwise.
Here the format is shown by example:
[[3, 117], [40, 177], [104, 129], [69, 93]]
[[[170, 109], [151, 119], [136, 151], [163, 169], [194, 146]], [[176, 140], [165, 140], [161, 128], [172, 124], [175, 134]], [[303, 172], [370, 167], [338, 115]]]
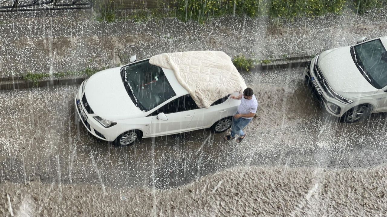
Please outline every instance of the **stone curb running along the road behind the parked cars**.
[[[310, 61], [311, 56], [295, 56], [284, 59], [270, 59], [267, 64], [260, 63], [252, 67], [252, 69], [259, 71], [283, 69], [283, 68], [295, 68], [304, 67]], [[46, 78], [38, 80], [36, 85], [32, 81], [26, 81], [23, 76], [9, 76], [0, 78], [0, 90], [18, 90], [34, 87], [48, 87], [59, 85], [80, 85], [82, 81], [87, 78], [83, 76], [64, 76], [62, 78]]]

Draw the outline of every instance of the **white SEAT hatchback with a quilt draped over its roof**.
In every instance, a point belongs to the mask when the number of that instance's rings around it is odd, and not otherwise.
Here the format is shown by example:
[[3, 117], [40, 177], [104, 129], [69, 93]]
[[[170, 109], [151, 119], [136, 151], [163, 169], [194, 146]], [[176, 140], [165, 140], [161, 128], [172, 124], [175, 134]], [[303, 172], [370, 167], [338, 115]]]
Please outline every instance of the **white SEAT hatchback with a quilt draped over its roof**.
[[205, 128], [224, 132], [240, 100], [230, 96], [209, 108], [197, 107], [172, 70], [149, 59], [100, 71], [82, 82], [75, 107], [87, 131], [120, 146], [143, 137], [164, 136]]

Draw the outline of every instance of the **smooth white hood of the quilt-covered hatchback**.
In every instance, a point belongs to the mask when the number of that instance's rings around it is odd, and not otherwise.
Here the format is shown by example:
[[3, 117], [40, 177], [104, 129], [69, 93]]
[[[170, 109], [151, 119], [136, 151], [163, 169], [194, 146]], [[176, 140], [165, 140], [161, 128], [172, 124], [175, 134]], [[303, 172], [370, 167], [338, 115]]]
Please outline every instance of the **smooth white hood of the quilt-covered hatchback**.
[[106, 120], [144, 117], [130, 99], [122, 83], [120, 67], [92, 75], [85, 86], [86, 100], [94, 114]]

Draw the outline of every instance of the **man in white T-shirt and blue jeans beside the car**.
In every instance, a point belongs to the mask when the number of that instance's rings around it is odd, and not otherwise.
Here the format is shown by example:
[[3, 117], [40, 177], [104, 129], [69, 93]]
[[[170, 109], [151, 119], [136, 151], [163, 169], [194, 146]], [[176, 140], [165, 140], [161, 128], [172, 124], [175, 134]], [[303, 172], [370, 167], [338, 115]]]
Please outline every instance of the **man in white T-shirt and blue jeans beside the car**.
[[241, 103], [238, 106], [238, 111], [234, 115], [233, 124], [231, 125], [231, 135], [224, 137], [224, 140], [230, 141], [235, 138], [235, 135], [238, 135], [239, 138], [236, 142], [239, 143], [246, 136], [246, 133], [242, 129], [253, 119], [255, 112], [257, 112], [258, 102], [251, 88], [246, 88], [243, 91], [243, 95], [231, 98], [241, 100]]

